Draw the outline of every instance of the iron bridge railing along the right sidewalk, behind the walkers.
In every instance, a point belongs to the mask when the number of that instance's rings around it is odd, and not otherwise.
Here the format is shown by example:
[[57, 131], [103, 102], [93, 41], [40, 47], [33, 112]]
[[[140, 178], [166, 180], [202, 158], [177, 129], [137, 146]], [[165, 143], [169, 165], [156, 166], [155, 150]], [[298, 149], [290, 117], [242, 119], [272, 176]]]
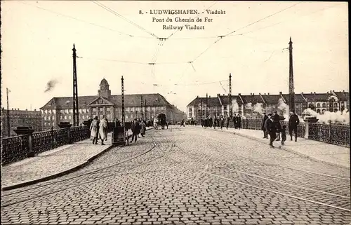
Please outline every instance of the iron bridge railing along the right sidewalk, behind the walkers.
[[[280, 121], [280, 123], [281, 125], [286, 125], [286, 135], [289, 135], [288, 121]], [[230, 123], [230, 127], [234, 127], [234, 125]], [[242, 119], [241, 128], [261, 130], [262, 120], [259, 118]], [[350, 126], [332, 123], [324, 124], [302, 122], [298, 124], [298, 137], [350, 147]]]

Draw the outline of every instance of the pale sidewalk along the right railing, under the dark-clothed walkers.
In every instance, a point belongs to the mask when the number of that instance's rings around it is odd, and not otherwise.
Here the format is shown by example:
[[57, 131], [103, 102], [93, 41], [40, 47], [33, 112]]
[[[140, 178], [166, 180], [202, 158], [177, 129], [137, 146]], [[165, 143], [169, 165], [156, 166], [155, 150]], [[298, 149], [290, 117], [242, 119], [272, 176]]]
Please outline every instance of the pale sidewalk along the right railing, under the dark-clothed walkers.
[[[262, 130], [235, 130], [234, 128], [228, 128], [227, 130], [226, 128], [223, 128], [223, 130], [219, 131], [232, 132], [235, 135], [255, 139], [258, 142], [269, 144], [268, 139], [263, 139]], [[274, 142], [273, 144], [276, 147], [282, 145], [281, 142]], [[317, 142], [304, 138], [298, 138], [298, 142], [290, 141], [290, 136], [288, 135], [285, 145], [281, 148], [286, 151], [290, 151], [307, 158], [312, 158], [317, 161], [322, 161], [324, 163], [329, 163], [332, 165], [338, 165], [343, 168], [350, 168], [350, 149], [342, 146]]]

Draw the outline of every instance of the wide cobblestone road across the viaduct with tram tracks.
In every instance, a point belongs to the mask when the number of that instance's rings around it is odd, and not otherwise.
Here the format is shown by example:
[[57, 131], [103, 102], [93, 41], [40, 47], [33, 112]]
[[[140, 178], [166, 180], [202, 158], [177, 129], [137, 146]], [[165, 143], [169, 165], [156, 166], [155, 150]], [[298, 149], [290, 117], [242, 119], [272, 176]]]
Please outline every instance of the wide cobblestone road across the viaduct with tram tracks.
[[147, 136], [3, 192], [1, 224], [350, 224], [349, 170], [225, 132]]

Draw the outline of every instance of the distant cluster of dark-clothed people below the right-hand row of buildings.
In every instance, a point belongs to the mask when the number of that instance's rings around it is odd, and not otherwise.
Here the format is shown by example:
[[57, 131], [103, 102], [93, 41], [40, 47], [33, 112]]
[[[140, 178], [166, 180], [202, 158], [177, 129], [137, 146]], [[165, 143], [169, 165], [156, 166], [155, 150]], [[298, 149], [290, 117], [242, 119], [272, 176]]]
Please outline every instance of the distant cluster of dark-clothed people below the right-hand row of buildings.
[[[232, 121], [234, 123], [234, 128], [235, 129], [240, 129], [241, 127], [241, 116], [240, 114], [237, 114], [237, 116], [232, 117]], [[224, 118], [223, 115], [221, 116], [214, 116], [212, 118], [211, 116], [208, 116], [207, 118], [201, 118], [201, 126], [203, 128], [215, 128], [216, 127], [219, 129], [223, 129], [224, 125], [228, 129], [230, 123], [230, 117], [228, 116], [227, 118]]]

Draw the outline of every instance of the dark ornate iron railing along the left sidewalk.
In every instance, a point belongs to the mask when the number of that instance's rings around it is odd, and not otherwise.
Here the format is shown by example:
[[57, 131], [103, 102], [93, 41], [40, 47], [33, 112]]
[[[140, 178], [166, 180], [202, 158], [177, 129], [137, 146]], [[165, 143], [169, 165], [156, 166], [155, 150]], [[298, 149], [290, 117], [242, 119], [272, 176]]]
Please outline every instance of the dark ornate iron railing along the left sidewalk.
[[1, 165], [14, 163], [29, 155], [39, 154], [65, 144], [79, 142], [89, 138], [89, 133], [88, 127], [81, 126], [3, 138], [1, 139]]

